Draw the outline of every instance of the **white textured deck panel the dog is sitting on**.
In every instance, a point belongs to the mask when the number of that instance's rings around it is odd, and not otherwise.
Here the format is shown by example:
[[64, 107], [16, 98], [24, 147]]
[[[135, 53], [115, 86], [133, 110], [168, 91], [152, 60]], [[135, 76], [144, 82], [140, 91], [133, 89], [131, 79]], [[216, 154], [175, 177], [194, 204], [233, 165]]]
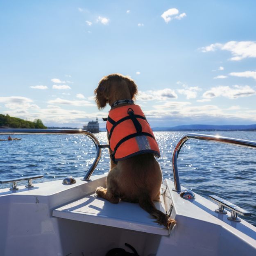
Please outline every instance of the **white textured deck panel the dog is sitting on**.
[[[156, 208], [163, 211], [160, 202]], [[154, 219], [138, 204], [120, 201], [111, 204], [96, 194], [88, 195], [70, 204], [61, 206], [52, 213], [55, 217], [89, 222], [110, 227], [168, 236], [169, 231], [154, 222]]]

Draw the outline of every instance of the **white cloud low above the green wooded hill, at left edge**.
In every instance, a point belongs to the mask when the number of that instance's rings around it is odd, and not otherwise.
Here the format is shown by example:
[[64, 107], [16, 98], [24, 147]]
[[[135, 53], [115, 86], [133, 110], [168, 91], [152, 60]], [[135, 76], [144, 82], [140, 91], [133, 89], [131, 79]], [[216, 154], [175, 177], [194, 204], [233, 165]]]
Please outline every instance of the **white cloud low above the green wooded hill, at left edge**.
[[36, 104], [32, 104], [34, 101], [27, 97], [11, 96], [0, 97], [0, 102], [5, 104], [7, 109], [40, 109]]

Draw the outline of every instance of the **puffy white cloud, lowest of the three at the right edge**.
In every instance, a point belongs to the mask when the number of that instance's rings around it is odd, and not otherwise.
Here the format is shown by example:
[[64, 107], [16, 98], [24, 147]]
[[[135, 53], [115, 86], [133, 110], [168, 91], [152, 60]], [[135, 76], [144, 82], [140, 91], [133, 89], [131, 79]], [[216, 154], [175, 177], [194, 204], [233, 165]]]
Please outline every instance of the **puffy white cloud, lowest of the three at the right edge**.
[[211, 99], [214, 97], [223, 96], [229, 99], [237, 99], [238, 97], [248, 97], [254, 94], [256, 94], [256, 91], [248, 85], [234, 85], [232, 88], [229, 86], [213, 87], [211, 90], [206, 91], [203, 94], [203, 97], [206, 99]]

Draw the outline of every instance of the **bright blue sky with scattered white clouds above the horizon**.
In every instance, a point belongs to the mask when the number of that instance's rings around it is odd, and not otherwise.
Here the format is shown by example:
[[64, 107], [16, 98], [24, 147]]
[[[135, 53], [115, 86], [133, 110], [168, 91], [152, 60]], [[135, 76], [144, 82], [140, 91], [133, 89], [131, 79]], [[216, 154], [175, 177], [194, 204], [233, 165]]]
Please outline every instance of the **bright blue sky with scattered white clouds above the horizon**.
[[93, 91], [129, 75], [152, 127], [256, 123], [255, 0], [0, 1], [0, 113], [99, 119]]

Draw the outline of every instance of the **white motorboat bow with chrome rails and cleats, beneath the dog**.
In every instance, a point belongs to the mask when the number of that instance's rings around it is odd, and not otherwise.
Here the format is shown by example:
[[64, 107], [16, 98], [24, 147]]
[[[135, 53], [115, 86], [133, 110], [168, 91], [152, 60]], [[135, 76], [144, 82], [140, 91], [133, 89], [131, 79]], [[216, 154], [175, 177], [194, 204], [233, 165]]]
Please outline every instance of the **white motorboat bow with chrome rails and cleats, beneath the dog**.
[[[84, 177], [32, 183], [42, 175], [0, 180], [0, 255], [2, 256], [254, 256], [256, 227], [249, 216], [217, 195], [209, 199], [181, 186], [178, 155], [187, 140], [206, 140], [256, 149], [256, 142], [187, 134], [172, 155], [174, 181], [165, 179], [155, 205], [177, 221], [173, 229], [154, 222], [138, 204], [111, 204], [95, 195], [106, 175], [93, 175], [102, 150], [85, 130], [10, 129], [0, 134], [83, 134], [93, 140], [96, 158]], [[26, 186], [18, 182], [27, 181]], [[254, 200], [254, 199], [252, 199]], [[125, 251], [129, 254], [125, 254]]]

